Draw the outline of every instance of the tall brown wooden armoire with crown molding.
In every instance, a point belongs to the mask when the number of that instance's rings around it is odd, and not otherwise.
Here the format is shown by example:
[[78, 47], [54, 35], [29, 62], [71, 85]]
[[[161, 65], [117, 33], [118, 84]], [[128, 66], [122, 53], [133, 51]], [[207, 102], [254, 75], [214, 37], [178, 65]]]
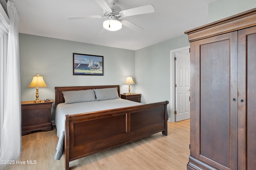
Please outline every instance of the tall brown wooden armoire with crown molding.
[[256, 8], [185, 32], [188, 170], [256, 170]]

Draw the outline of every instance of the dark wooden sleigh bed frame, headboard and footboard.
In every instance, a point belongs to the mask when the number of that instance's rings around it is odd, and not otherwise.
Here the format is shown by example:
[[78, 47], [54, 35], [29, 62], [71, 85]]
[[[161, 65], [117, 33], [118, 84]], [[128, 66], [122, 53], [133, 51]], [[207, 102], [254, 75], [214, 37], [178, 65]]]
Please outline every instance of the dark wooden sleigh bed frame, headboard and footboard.
[[[55, 87], [55, 107], [63, 91], [117, 88], [112, 86]], [[64, 163], [162, 132], [167, 136], [168, 101], [65, 116]]]

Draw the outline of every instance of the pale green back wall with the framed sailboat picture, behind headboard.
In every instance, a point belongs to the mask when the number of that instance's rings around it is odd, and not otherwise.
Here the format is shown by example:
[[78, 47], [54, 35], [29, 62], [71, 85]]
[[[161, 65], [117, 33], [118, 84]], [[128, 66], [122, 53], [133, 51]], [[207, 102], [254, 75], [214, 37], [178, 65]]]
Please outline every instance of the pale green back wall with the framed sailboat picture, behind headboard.
[[[28, 86], [37, 73], [43, 76], [48, 86], [39, 88], [40, 100], [55, 99], [55, 86], [119, 84], [122, 93], [128, 92], [128, 85], [124, 85], [126, 76], [135, 75], [133, 50], [22, 33], [19, 34], [19, 41], [22, 101], [35, 100], [36, 89]], [[74, 76], [73, 53], [104, 56], [104, 76]], [[135, 92], [134, 85], [131, 85], [131, 92]], [[54, 109], [52, 112], [54, 119]]]

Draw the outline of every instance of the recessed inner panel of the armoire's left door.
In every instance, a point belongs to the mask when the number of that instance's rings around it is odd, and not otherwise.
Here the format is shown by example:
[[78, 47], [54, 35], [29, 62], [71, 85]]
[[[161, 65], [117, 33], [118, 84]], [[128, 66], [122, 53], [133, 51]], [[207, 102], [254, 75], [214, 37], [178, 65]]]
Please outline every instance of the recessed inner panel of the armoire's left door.
[[200, 53], [201, 155], [229, 167], [230, 40], [201, 45]]

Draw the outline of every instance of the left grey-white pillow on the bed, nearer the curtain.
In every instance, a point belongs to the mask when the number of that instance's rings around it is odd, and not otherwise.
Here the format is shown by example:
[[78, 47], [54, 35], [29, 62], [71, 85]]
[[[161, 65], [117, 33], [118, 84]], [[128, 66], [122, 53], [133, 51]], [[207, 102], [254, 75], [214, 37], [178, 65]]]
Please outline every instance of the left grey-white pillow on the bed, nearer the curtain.
[[65, 104], [95, 101], [95, 93], [92, 89], [63, 91]]

